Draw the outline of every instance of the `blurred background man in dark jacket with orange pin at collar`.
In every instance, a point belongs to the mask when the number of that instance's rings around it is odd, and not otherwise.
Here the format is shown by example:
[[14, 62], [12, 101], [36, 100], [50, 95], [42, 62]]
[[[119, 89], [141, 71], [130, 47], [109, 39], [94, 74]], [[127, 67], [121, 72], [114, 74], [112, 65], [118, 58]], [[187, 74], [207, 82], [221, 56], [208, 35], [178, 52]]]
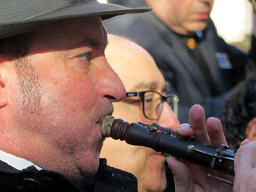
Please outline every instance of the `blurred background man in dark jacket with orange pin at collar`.
[[195, 103], [205, 108], [207, 117], [220, 117], [232, 88], [255, 67], [244, 52], [218, 36], [210, 18], [213, 0], [123, 3], [149, 6], [153, 11], [107, 20], [105, 26], [108, 32], [135, 39], [153, 56], [169, 84], [168, 90], [180, 99], [180, 122], [188, 122], [189, 108]]

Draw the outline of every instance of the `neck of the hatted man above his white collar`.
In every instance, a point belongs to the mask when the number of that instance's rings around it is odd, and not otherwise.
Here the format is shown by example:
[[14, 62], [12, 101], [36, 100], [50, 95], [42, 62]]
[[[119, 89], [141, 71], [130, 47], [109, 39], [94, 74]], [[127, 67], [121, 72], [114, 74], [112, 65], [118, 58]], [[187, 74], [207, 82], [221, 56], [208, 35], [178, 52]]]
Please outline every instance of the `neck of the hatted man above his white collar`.
[[[63, 175], [73, 181], [78, 181], [81, 177], [83, 177], [82, 173], [74, 162], [75, 155], [72, 156], [61, 153], [60, 150], [44, 141], [44, 138], [33, 135], [31, 132], [15, 132], [14, 136], [11, 134], [5, 134], [3, 131], [1, 131], [0, 150], [4, 151], [6, 154], [9, 154], [7, 155], [8, 158], [14, 155], [13, 157], [15, 157], [15, 160], [20, 160], [20, 162], [22, 161], [25, 163], [25, 166], [32, 166], [35, 164], [45, 170], [61, 172]], [[0, 156], [2, 157], [1, 153]], [[6, 161], [9, 160], [3, 160], [3, 162]], [[10, 166], [14, 165], [11, 164]], [[24, 166], [14, 167], [17, 169], [26, 168]]]

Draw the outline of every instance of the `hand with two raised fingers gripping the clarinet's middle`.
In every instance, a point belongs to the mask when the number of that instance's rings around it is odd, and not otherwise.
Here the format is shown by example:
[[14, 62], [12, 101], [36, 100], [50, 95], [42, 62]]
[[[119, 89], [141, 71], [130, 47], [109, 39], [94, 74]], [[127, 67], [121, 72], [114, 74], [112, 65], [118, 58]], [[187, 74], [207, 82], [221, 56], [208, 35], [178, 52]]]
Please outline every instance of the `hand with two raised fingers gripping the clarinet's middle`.
[[[189, 127], [177, 130], [183, 136], [195, 136], [195, 141], [221, 147], [227, 144], [222, 125], [219, 119], [205, 119], [204, 109], [200, 105], [193, 106], [189, 111]], [[207, 173], [226, 178], [226, 175], [214, 172], [202, 166], [178, 161], [168, 157], [167, 163], [172, 169], [176, 192], [201, 192], [201, 191], [232, 191], [232, 186], [208, 177]]]

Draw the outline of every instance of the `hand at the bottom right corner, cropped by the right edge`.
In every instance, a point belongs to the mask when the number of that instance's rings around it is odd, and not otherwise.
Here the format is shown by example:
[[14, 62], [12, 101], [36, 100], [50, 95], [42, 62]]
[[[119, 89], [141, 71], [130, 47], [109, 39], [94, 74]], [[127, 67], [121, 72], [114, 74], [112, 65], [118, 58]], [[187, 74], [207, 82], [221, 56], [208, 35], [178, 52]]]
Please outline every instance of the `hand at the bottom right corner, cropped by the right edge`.
[[256, 191], [256, 142], [245, 140], [235, 157], [234, 192]]

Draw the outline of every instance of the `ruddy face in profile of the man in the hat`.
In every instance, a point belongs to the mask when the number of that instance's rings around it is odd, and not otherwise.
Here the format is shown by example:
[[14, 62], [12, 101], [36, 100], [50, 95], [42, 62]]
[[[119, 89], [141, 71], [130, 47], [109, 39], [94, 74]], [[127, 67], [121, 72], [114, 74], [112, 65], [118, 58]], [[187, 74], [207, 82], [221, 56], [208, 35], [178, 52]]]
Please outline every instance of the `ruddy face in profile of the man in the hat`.
[[39, 31], [31, 53], [16, 62], [9, 104], [13, 125], [26, 133], [20, 144], [33, 148], [28, 160], [73, 179], [96, 172], [102, 119], [125, 96], [106, 61], [106, 44], [99, 17], [69, 20]]

